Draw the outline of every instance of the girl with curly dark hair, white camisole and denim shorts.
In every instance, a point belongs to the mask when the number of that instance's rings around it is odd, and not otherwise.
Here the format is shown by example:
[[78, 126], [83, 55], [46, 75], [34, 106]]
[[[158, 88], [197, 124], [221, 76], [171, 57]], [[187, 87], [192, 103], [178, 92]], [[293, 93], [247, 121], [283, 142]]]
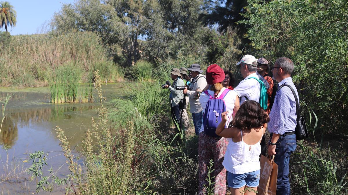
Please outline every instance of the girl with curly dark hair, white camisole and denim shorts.
[[[240, 106], [228, 128], [225, 128], [227, 119], [227, 112], [223, 112], [216, 134], [229, 139], [222, 162], [228, 171], [228, 187], [232, 195], [256, 194], [260, 180], [260, 142], [267, 128], [269, 116], [259, 103], [247, 100]], [[252, 190], [244, 193], [245, 187], [250, 187]]]

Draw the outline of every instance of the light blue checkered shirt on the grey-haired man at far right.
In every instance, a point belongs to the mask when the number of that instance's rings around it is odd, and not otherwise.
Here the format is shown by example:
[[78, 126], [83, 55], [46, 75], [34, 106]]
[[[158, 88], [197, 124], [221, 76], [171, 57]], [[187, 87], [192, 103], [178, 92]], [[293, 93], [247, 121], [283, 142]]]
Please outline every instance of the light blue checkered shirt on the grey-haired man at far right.
[[[290, 85], [296, 93], [297, 98], [299, 94], [292, 82], [292, 78], [288, 77], [279, 82], [279, 87], [283, 84]], [[299, 100], [300, 101], [300, 100]], [[270, 133], [284, 134], [292, 132], [296, 127], [296, 100], [287, 86], [283, 86], [277, 91], [274, 99], [272, 110], [269, 113], [270, 121], [268, 123], [268, 130]]]

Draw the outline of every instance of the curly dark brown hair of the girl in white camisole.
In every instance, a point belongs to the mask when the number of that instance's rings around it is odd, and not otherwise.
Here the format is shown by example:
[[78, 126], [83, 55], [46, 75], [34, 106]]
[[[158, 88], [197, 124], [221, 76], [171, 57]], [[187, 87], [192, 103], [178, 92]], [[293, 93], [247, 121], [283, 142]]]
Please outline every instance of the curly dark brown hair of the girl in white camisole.
[[252, 129], [261, 127], [267, 122], [269, 122], [269, 116], [260, 104], [254, 100], [247, 100], [240, 106], [229, 127]]

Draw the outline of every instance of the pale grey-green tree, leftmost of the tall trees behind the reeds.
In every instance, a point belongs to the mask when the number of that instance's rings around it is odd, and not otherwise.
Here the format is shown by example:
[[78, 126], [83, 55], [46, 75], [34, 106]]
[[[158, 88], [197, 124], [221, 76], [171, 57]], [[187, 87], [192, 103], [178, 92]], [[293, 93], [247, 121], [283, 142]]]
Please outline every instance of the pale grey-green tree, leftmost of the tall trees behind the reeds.
[[90, 31], [98, 34], [113, 56], [118, 54], [120, 18], [111, 5], [99, 0], [79, 0], [74, 4], [63, 4], [55, 13], [51, 26], [56, 32]]

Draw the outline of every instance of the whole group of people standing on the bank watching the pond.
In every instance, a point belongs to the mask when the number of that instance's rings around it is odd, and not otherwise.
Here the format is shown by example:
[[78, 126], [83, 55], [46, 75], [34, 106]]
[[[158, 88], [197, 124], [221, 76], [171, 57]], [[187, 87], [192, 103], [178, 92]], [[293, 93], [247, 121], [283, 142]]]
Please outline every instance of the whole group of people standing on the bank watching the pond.
[[[230, 71], [216, 64], [207, 67], [206, 75], [198, 64], [174, 68], [173, 85], [166, 86], [171, 92], [176, 124], [185, 123], [188, 117], [183, 117], [183, 105], [190, 104], [195, 133], [199, 135], [198, 194], [206, 193], [211, 159], [214, 194], [226, 194], [226, 173], [232, 195], [255, 194], [260, 180], [259, 158], [266, 155], [267, 148], [278, 165], [277, 194], [290, 194], [288, 174], [290, 154], [296, 149], [296, 101], [292, 90], [282, 86], [290, 85], [298, 99], [291, 78], [294, 64], [282, 57], [270, 69], [266, 59], [245, 55], [236, 65], [244, 78], [236, 87]], [[273, 77], [268, 75], [270, 70]], [[185, 87], [176, 90], [176, 86]], [[264, 138], [267, 129], [268, 143]]]

